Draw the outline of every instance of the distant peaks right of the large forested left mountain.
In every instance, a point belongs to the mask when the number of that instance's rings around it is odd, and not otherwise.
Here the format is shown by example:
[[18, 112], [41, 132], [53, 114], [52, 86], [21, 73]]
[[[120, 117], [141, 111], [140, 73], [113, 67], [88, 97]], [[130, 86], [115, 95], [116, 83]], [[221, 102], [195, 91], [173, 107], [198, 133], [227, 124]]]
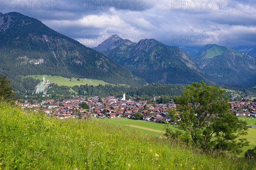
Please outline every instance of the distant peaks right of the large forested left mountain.
[[[180, 48], [192, 50], [193, 57]], [[247, 54], [215, 44], [203, 48], [180, 48], [164, 45], [154, 39], [134, 43], [112, 35], [93, 49], [149, 83], [175, 84], [204, 80], [208, 83], [251, 85], [256, 82], [255, 59]], [[195, 51], [198, 52], [195, 54]]]

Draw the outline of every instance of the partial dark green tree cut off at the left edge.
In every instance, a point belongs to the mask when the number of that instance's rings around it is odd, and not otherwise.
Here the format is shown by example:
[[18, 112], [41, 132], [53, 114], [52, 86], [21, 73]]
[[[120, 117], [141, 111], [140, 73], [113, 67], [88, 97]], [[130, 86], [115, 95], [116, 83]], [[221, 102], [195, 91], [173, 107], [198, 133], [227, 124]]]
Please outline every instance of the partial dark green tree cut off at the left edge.
[[15, 101], [15, 93], [12, 91], [11, 81], [5, 76], [0, 76], [0, 100]]

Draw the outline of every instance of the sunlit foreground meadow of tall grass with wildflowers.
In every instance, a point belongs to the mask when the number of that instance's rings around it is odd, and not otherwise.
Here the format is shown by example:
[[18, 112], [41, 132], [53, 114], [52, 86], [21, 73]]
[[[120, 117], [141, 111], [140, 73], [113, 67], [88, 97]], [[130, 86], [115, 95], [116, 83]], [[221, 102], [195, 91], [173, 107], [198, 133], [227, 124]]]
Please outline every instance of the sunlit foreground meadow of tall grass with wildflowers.
[[255, 163], [242, 157], [207, 155], [111, 121], [56, 119], [0, 103], [0, 167], [3, 170], [255, 170]]

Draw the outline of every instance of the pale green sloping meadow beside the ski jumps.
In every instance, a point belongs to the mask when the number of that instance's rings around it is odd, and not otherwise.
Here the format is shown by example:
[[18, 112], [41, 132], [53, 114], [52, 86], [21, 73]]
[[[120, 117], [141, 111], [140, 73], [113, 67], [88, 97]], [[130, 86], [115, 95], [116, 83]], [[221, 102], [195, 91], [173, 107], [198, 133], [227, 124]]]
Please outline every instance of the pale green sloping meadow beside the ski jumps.
[[97, 79], [80, 79], [80, 81], [78, 81], [77, 79], [72, 78], [70, 81], [70, 79], [67, 79], [61, 76], [50, 76], [50, 75], [30, 75], [26, 77], [32, 77], [34, 79], [42, 80], [43, 76], [45, 76], [46, 81], [47, 79], [49, 79], [50, 83], [55, 83], [57, 85], [64, 85], [69, 87], [73, 87], [74, 85], [86, 85], [86, 84], [88, 85], [109, 84], [108, 82], [105, 82], [103, 80], [97, 80]]

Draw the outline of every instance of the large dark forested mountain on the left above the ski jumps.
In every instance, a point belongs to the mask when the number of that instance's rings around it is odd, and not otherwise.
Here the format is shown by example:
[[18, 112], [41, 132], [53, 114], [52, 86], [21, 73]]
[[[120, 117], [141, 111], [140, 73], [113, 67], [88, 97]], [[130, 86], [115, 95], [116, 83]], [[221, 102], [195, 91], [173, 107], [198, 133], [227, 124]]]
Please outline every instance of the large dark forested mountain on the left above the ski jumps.
[[0, 13], [0, 37], [0, 73], [13, 80], [15, 90], [23, 88], [19, 76], [36, 74], [145, 84], [102, 53], [17, 12]]

